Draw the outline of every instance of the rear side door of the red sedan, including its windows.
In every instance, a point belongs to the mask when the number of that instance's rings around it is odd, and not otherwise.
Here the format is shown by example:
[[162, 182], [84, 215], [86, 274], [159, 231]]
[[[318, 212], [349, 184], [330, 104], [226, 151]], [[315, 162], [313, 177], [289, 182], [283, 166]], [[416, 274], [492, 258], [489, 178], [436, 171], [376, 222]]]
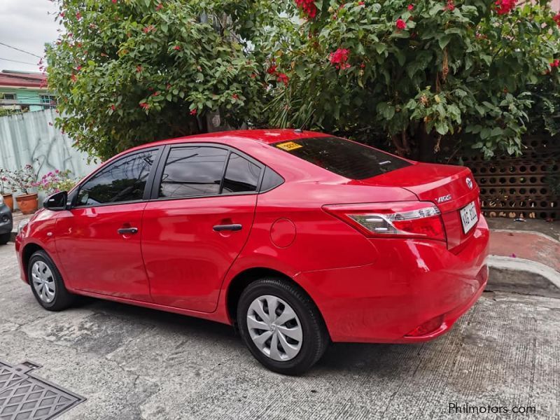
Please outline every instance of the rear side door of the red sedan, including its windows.
[[262, 166], [219, 145], [169, 147], [144, 210], [154, 302], [210, 312], [253, 224]]

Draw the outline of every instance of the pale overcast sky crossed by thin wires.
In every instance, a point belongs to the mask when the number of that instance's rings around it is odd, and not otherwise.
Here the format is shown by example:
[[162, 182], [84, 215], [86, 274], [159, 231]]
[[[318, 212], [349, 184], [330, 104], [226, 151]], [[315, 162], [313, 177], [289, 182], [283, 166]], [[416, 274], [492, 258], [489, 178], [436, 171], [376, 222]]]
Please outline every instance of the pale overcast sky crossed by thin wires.
[[58, 36], [57, 10], [50, 0], [0, 0], [0, 70], [39, 71], [38, 57], [1, 43], [42, 57], [45, 43]]

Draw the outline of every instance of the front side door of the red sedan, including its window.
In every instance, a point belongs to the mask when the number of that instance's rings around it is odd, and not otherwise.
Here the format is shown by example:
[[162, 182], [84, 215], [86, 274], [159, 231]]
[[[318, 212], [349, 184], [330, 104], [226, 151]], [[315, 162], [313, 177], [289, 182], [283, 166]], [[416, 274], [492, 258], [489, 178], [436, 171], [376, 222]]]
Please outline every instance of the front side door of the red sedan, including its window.
[[141, 254], [142, 213], [161, 148], [132, 152], [83, 183], [57, 220], [57, 252], [69, 285], [151, 300]]

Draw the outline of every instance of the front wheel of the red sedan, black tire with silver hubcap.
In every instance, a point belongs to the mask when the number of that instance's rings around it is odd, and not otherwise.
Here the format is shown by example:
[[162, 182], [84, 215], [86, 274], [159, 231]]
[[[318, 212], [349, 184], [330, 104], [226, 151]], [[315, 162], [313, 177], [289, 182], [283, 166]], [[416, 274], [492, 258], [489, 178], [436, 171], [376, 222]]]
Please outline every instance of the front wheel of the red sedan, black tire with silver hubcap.
[[37, 302], [48, 311], [62, 311], [72, 304], [74, 295], [64, 286], [60, 272], [45, 251], [31, 255], [27, 278]]

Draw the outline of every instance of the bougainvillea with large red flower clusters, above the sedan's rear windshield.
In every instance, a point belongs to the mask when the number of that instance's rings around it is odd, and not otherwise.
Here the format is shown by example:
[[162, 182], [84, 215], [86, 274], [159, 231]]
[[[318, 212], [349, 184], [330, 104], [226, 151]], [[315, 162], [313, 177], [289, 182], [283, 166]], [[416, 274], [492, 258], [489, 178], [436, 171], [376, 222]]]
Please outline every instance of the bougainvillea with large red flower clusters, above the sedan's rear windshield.
[[486, 157], [514, 154], [533, 87], [558, 90], [560, 15], [548, 1], [296, 0], [295, 7], [300, 27], [271, 44], [275, 68], [290, 80], [267, 107], [273, 125], [363, 140], [374, 132], [423, 160], [446, 140]]

